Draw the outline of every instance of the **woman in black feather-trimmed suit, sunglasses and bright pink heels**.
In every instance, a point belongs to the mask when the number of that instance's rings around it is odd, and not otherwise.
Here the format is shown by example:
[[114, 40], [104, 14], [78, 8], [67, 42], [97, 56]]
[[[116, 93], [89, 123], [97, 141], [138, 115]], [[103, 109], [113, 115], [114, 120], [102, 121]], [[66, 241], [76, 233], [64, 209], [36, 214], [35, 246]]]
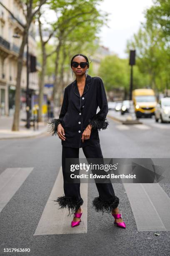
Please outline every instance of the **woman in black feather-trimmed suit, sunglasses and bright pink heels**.
[[[53, 135], [58, 135], [62, 143], [62, 173], [65, 195], [54, 200], [61, 208], [68, 208], [74, 215], [71, 226], [80, 224], [83, 200], [80, 195], [80, 183], [66, 183], [65, 158], [79, 158], [79, 148], [82, 148], [86, 158], [101, 158], [100, 139], [98, 131], [107, 128], [108, 112], [107, 97], [102, 79], [90, 77], [87, 74], [89, 61], [87, 56], [76, 54], [71, 59], [72, 74], [75, 81], [64, 91], [62, 108], [58, 119], [52, 119], [50, 124]], [[96, 114], [97, 107], [100, 111]], [[118, 227], [125, 228], [125, 223], [117, 208], [119, 198], [115, 196], [112, 183], [96, 183], [99, 197], [95, 197], [92, 206], [98, 212], [112, 213]]]

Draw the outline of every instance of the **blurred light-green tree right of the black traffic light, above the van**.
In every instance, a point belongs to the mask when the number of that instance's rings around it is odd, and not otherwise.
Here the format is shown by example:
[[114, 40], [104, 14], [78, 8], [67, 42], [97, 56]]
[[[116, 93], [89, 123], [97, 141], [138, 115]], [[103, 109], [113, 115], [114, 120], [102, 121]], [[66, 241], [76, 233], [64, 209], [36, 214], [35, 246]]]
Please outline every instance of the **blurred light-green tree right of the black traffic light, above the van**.
[[[158, 84], [161, 72], [167, 70], [168, 76], [168, 48], [158, 28], [148, 28], [143, 24], [138, 33], [127, 41], [126, 52], [136, 50], [136, 65], [142, 74], [148, 78], [147, 84], [154, 90], [160, 88]], [[167, 56], [166, 56], [167, 55]], [[163, 84], [162, 84], [163, 88]]]

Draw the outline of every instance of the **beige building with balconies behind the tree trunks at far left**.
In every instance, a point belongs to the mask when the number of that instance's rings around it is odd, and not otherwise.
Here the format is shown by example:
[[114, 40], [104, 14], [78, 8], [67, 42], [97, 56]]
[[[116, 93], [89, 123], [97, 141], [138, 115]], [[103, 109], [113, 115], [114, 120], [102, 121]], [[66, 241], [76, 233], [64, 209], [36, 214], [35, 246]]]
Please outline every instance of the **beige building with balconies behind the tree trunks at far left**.
[[[22, 1], [0, 0], [21, 23], [25, 23]], [[0, 116], [12, 115], [15, 108], [15, 86], [17, 78], [17, 58], [22, 41], [23, 27], [0, 5]], [[16, 35], [19, 36], [15, 37]], [[35, 24], [32, 23], [28, 37], [29, 54], [36, 56]], [[25, 105], [27, 84], [25, 46], [21, 77], [21, 108]], [[37, 68], [38, 69], [38, 68]], [[29, 88], [38, 93], [38, 74], [29, 74]]]

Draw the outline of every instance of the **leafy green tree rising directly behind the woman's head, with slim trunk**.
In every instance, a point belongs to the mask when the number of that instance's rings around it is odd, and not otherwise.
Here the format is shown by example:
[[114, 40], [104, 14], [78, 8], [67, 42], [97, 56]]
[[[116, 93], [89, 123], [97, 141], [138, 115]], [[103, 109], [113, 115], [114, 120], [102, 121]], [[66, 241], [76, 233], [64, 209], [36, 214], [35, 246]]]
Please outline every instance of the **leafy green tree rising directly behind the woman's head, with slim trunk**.
[[69, 56], [72, 56], [74, 54], [71, 53], [71, 49], [76, 49], [77, 53], [85, 49], [88, 42], [93, 43], [97, 32], [104, 24], [103, 20], [107, 18], [107, 15], [104, 17], [96, 9], [96, 5], [99, 2], [100, 0], [69, 1], [69, 4], [67, 3], [68, 5], [60, 11], [60, 17], [57, 20], [55, 82], [53, 91], [54, 105], [57, 107], [60, 106], [60, 95], [62, 92], [62, 86], [58, 80], [62, 45], [68, 42], [70, 48]]

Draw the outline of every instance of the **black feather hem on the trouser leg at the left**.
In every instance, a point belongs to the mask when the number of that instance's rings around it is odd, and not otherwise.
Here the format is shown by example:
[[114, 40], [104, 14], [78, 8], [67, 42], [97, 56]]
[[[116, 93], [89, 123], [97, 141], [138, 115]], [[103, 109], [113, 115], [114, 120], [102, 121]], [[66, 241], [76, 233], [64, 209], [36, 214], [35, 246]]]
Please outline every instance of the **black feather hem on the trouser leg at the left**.
[[[60, 205], [59, 209], [63, 209], [63, 208], [68, 208], [69, 210], [69, 214], [67, 216], [71, 216], [71, 214], [74, 214], [75, 212], [77, 212], [78, 208], [80, 208], [80, 206], [83, 204], [83, 200], [82, 198], [80, 198], [80, 200], [77, 200], [77, 198], [72, 197], [66, 197], [65, 195], [62, 195], [62, 197], [57, 197], [57, 200], [53, 200], [55, 202], [57, 202]], [[71, 210], [71, 214], [70, 214], [70, 210]]]

